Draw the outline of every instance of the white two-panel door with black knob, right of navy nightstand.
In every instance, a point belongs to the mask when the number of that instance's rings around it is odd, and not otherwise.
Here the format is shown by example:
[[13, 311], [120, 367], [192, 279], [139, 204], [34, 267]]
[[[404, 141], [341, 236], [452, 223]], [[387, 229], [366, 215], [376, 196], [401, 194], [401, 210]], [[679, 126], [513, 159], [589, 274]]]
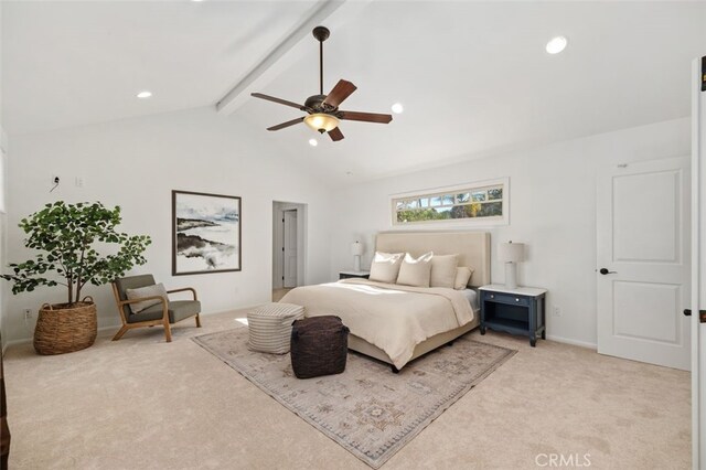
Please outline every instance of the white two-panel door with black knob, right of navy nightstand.
[[688, 370], [687, 157], [598, 175], [598, 352]]

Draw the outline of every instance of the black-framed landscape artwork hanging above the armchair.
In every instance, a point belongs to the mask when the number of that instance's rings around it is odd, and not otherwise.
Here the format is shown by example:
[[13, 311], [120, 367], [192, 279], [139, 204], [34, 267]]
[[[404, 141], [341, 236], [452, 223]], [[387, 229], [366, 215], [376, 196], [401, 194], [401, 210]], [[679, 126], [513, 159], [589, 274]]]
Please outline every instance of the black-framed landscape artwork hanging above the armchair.
[[172, 275], [240, 270], [240, 197], [172, 191]]

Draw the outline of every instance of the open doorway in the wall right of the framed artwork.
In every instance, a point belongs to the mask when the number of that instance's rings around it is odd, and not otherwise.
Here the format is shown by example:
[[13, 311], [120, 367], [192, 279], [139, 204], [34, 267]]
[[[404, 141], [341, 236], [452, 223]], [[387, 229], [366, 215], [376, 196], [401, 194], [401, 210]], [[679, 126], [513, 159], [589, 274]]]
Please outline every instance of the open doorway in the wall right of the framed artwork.
[[272, 301], [304, 284], [307, 205], [272, 202]]

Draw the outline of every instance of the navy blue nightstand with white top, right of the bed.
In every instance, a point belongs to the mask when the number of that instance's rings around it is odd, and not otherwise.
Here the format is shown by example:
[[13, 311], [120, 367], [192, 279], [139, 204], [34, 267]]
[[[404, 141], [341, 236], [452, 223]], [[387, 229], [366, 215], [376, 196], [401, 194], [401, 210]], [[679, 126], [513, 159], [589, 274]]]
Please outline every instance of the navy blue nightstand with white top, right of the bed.
[[546, 289], [517, 287], [507, 289], [501, 285], [483, 286], [481, 293], [481, 334], [485, 330], [505, 331], [530, 337], [530, 344], [537, 344], [537, 335], [546, 339]]

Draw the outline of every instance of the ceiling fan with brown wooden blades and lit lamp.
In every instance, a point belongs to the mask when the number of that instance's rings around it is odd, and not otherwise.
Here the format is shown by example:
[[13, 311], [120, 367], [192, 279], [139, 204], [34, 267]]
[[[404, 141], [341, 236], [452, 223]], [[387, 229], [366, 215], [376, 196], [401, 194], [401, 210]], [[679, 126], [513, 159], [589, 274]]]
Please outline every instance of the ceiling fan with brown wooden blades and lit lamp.
[[330, 31], [324, 26], [317, 26], [313, 29], [312, 33], [317, 41], [319, 41], [319, 95], [312, 95], [307, 98], [303, 105], [299, 105], [293, 102], [264, 95], [261, 93], [253, 93], [252, 96], [256, 98], [267, 99], [268, 102], [279, 103], [285, 106], [291, 106], [292, 108], [297, 108], [308, 114], [308, 116], [268, 127], [267, 130], [279, 130], [299, 122], [304, 122], [313, 130], [318, 130], [321, 133], [328, 132], [331, 140], [338, 141], [343, 139], [343, 132], [339, 129], [340, 120], [360, 120], [364, 122], [379, 124], [388, 124], [393, 120], [392, 115], [344, 111], [339, 109], [339, 105], [356, 89], [356, 86], [351, 82], [340, 79], [331, 93], [328, 95], [323, 94], [323, 42], [329, 39]]

